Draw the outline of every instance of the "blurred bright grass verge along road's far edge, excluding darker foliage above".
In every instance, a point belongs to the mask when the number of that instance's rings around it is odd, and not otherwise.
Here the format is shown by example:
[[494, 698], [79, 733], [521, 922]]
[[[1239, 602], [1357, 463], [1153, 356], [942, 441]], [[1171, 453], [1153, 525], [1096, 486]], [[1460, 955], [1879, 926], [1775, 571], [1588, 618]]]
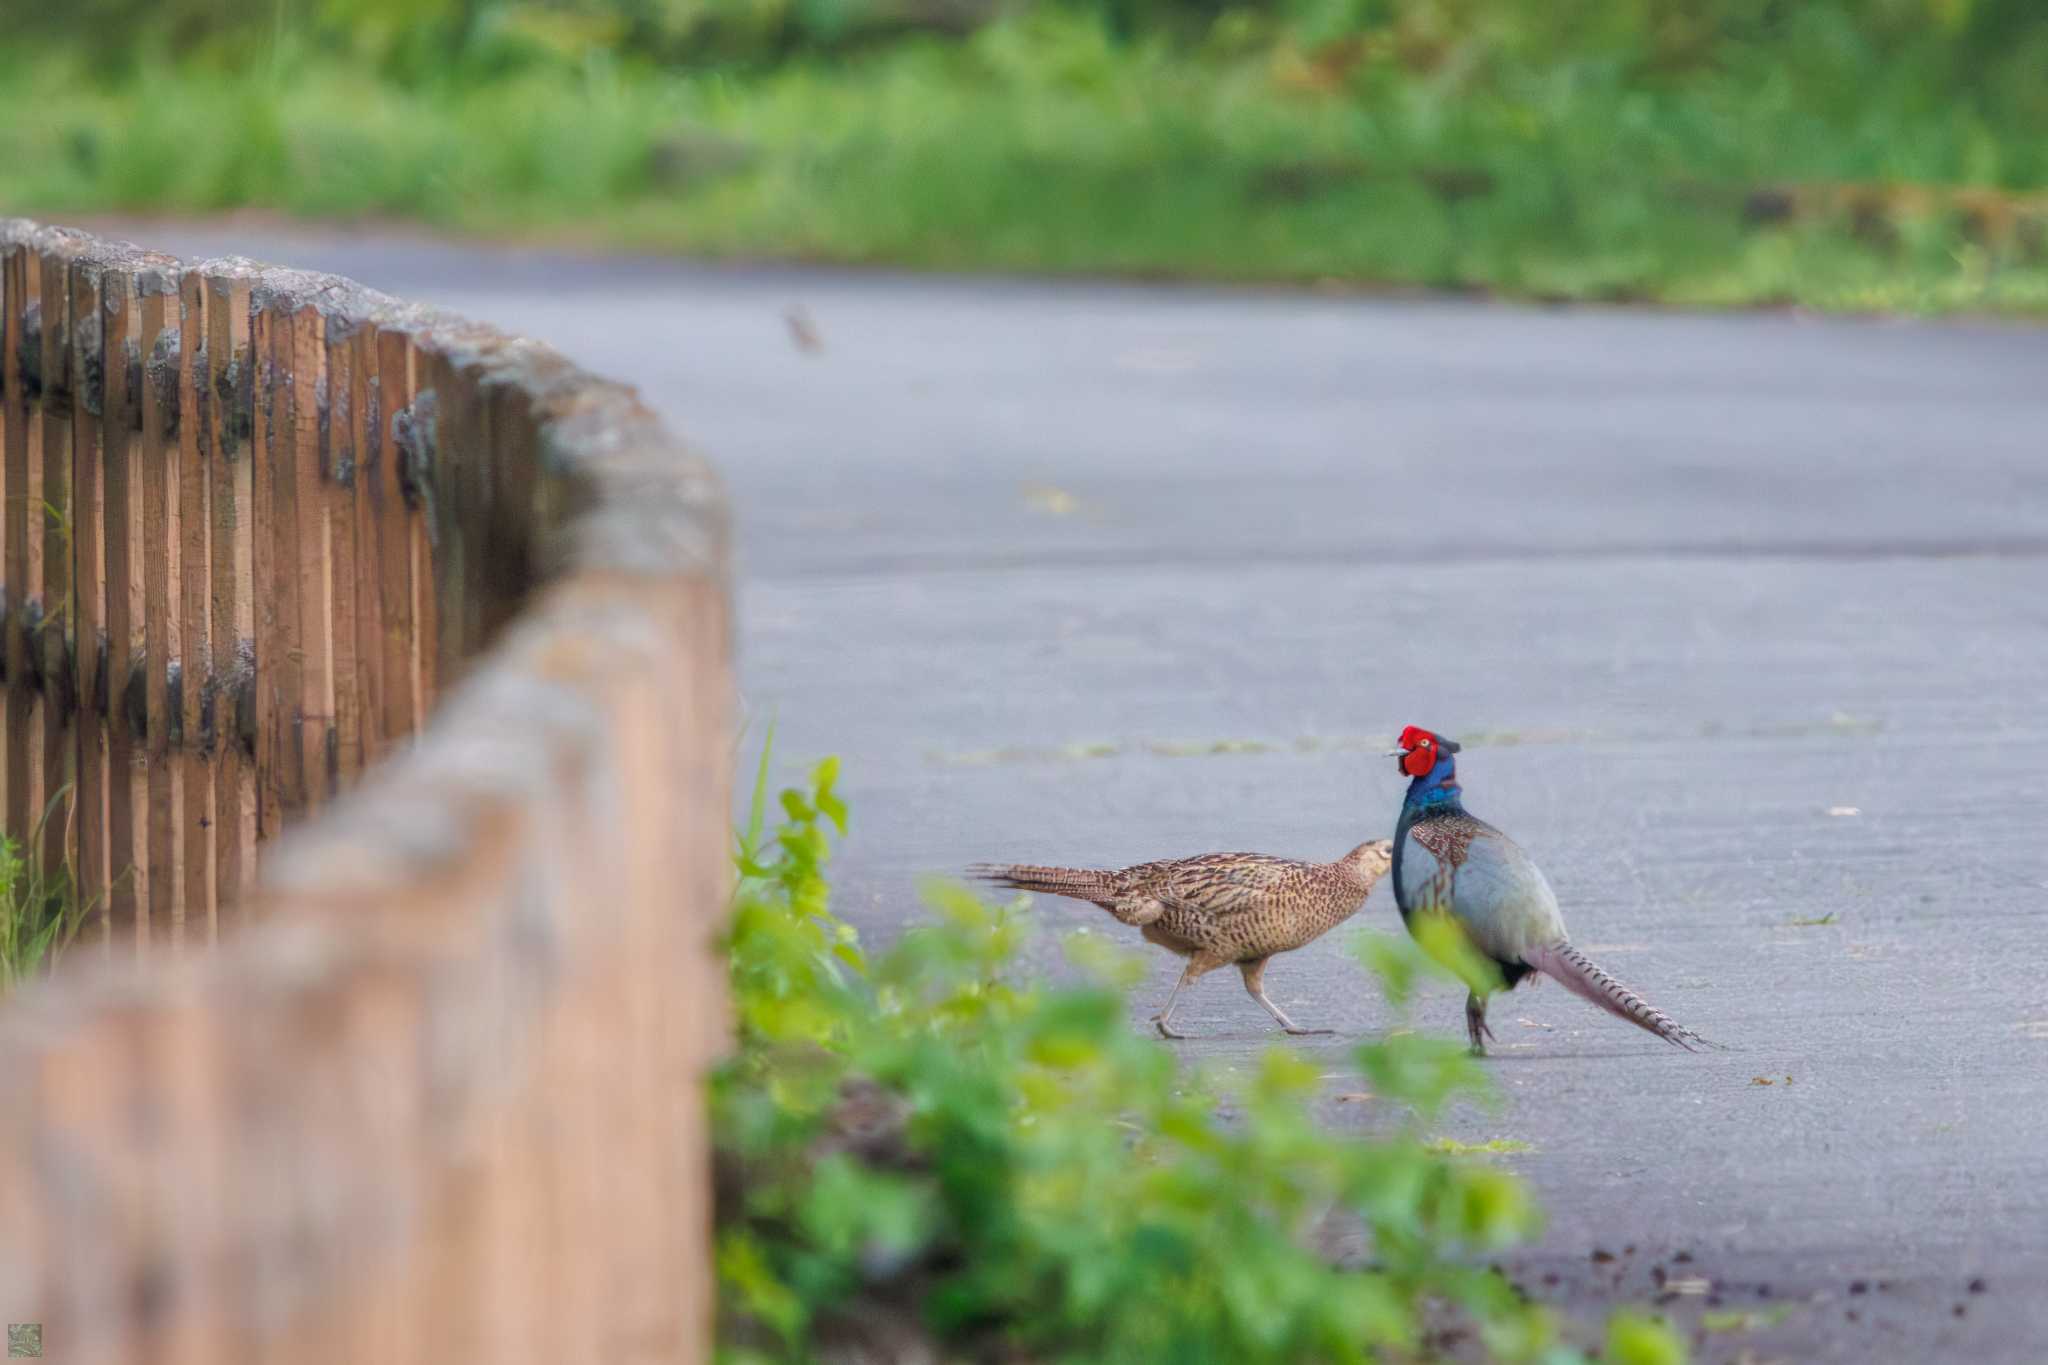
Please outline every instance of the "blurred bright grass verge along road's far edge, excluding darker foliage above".
[[1114, 43], [1057, 10], [967, 41], [698, 72], [586, 53], [399, 82], [295, 49], [106, 84], [49, 55], [0, 68], [0, 205], [262, 207], [969, 270], [2048, 313], [2048, 207], [2032, 190], [2048, 139], [2025, 123], [2040, 100], [1952, 90], [1954, 72], [1845, 12], [1794, 8], [1767, 47], [1722, 43], [1673, 76], [1599, 53], [1331, 76], [1292, 39]]

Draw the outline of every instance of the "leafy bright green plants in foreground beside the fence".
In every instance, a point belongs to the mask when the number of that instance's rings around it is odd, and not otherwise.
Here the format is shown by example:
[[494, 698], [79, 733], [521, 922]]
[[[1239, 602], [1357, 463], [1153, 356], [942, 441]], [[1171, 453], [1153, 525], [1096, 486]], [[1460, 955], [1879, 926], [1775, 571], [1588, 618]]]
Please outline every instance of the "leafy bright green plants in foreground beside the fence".
[[[1020, 980], [1020, 907], [934, 884], [932, 919], [870, 960], [829, 907], [836, 780], [827, 761], [782, 792], [770, 829], [764, 755], [739, 833], [739, 1038], [713, 1087], [725, 1359], [899, 1359], [874, 1347], [891, 1320], [942, 1359], [1370, 1361], [1450, 1322], [1491, 1359], [1581, 1359], [1475, 1265], [1532, 1232], [1528, 1189], [1421, 1138], [1487, 1095], [1462, 1048], [1362, 1046], [1380, 1121], [1339, 1138], [1300, 1052], [1225, 1078], [1139, 1038], [1143, 968], [1102, 939], [1071, 945], [1079, 984]], [[1430, 970], [1382, 952], [1399, 997]], [[1331, 1220], [1366, 1232], [1358, 1265], [1325, 1254]]]

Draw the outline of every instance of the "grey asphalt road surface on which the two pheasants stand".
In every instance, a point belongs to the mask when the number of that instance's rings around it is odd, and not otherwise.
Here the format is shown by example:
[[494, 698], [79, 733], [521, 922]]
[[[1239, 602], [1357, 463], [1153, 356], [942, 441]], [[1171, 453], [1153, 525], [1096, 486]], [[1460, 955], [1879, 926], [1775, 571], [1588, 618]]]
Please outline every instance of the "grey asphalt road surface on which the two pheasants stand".
[[[1460, 737], [1573, 937], [1731, 1046], [1495, 1007], [1507, 1103], [1446, 1132], [1532, 1146], [1530, 1289], [1790, 1306], [1702, 1359], [2048, 1359], [2048, 332], [131, 235], [532, 332], [698, 438], [870, 933], [971, 860], [1329, 857], [1401, 724]], [[1389, 1025], [1343, 939], [1268, 974], [1333, 1091]], [[1233, 974], [1180, 1023], [1280, 1042]]]

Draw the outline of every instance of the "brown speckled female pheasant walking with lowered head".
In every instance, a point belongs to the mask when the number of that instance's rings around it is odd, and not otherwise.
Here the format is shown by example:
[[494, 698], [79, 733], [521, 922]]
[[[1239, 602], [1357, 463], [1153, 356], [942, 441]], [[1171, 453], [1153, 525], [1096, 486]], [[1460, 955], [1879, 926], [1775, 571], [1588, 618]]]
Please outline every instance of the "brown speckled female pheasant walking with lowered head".
[[1202, 853], [1139, 864], [1116, 872], [977, 864], [969, 876], [1014, 890], [1071, 896], [1102, 907], [1188, 960], [1165, 1009], [1153, 1015], [1159, 1033], [1174, 1031], [1174, 1003], [1188, 982], [1237, 964], [1245, 990], [1288, 1033], [1329, 1033], [1296, 1027], [1266, 999], [1266, 960], [1313, 943], [1358, 913], [1372, 884], [1386, 874], [1393, 843], [1360, 843], [1333, 864], [1294, 862], [1266, 853]]

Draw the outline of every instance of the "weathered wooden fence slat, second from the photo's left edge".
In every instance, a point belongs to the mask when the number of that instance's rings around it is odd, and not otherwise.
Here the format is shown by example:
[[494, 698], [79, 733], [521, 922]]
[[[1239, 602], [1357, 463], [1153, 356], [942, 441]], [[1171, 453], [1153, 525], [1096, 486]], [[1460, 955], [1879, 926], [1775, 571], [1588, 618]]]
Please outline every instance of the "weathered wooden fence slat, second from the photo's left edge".
[[[43, 671], [43, 868], [72, 857], [72, 765], [78, 759], [72, 712], [72, 256], [43, 252], [43, 526], [41, 622]], [[86, 319], [90, 323], [90, 319]]]

